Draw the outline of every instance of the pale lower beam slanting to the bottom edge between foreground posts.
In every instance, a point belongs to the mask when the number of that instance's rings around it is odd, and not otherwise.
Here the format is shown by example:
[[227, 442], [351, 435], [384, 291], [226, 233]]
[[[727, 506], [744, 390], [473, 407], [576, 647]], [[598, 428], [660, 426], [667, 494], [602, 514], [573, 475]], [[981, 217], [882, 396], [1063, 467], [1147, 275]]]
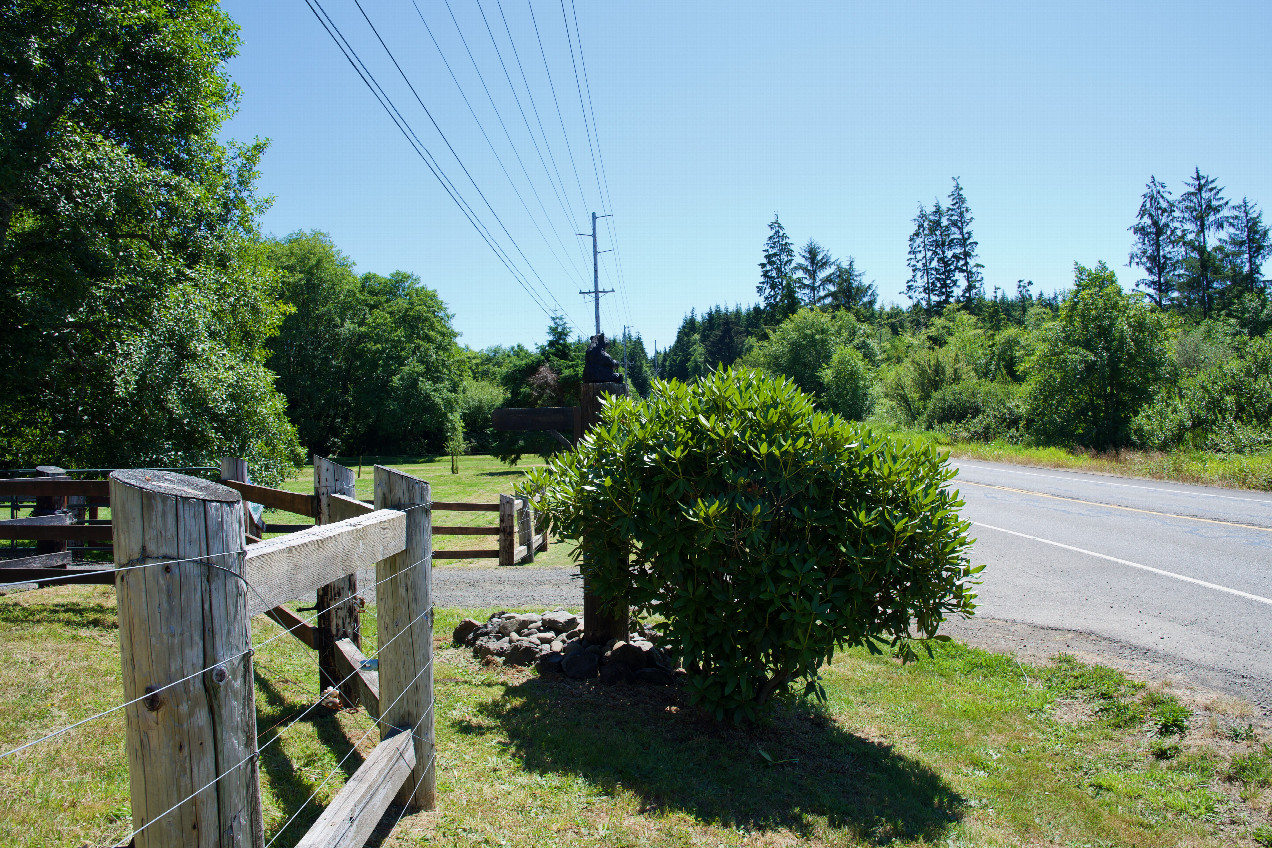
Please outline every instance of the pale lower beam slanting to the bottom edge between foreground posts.
[[296, 848], [361, 848], [371, 838], [393, 796], [411, 777], [415, 748], [410, 732], [389, 736], [366, 756], [336, 793]]

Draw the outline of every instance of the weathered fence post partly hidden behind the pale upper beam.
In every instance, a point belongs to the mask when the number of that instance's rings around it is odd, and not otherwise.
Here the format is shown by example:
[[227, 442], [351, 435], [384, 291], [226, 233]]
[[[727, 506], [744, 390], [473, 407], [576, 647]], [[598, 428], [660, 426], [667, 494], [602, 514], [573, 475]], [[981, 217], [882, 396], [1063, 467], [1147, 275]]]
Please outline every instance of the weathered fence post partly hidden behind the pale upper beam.
[[[331, 496], [343, 495], [356, 497], [354, 486], [356, 478], [354, 472], [343, 465], [338, 465], [329, 459], [314, 456], [314, 495], [318, 496], [318, 524], [331, 524], [335, 519], [331, 514]], [[349, 575], [318, 587], [318, 620], [314, 627], [314, 647], [318, 650], [318, 679], [322, 690], [332, 687], [340, 688], [340, 697], [345, 703], [356, 706], [359, 703], [357, 681], [354, 679], [340, 681], [346, 676], [340, 673], [340, 657], [336, 642], [349, 639], [359, 648], [363, 647], [361, 609], [360, 601], [349, 600], [357, 594], [357, 575]]]

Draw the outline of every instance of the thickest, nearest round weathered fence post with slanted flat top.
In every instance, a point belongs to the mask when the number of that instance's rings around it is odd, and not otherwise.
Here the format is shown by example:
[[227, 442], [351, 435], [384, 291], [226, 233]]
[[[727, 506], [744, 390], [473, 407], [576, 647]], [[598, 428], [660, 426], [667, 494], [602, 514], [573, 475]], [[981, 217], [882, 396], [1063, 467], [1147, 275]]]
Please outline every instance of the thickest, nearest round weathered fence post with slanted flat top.
[[118, 568], [156, 563], [116, 578], [135, 845], [261, 848], [242, 498], [117, 470], [111, 523]]

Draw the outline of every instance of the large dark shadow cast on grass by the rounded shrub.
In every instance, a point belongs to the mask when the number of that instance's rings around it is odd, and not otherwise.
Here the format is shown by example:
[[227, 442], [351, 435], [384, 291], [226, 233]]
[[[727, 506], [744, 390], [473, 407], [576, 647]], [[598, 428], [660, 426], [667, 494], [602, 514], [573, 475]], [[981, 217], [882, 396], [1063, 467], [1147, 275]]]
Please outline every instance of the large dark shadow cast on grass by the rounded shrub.
[[577, 774], [607, 793], [622, 784], [644, 797], [644, 812], [800, 835], [829, 826], [887, 843], [941, 840], [964, 809], [927, 767], [803, 703], [735, 728], [702, 717], [679, 690], [536, 679], [483, 712], [494, 727], [459, 732], [502, 732], [528, 770]]

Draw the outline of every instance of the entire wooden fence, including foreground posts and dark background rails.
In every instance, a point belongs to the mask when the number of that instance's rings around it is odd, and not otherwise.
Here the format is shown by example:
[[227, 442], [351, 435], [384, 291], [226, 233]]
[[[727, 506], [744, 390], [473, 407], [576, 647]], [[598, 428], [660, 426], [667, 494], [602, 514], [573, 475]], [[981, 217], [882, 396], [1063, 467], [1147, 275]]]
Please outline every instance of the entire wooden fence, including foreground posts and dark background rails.
[[[116, 470], [107, 481], [59, 472], [0, 481], [0, 498], [50, 498], [41, 503], [56, 515], [47, 524], [0, 523], [0, 534], [10, 533], [0, 538], [111, 543], [113, 567], [70, 566], [69, 552], [60, 551], [53, 563], [0, 567], [0, 589], [19, 581], [113, 584], [123, 703], [0, 758], [123, 711], [134, 829], [114, 844], [267, 848], [261, 751], [338, 692], [375, 723], [322, 786], [370, 734], [379, 732], [379, 744], [295, 844], [360, 848], [394, 800], [403, 812], [435, 807], [432, 561], [533, 559], [547, 548], [547, 531], [536, 533], [525, 501], [504, 495], [499, 503], [435, 502], [429, 483], [377, 467], [374, 498], [365, 502], [355, 496], [355, 473], [322, 458], [314, 459], [313, 495], [254, 486], [235, 459], [223, 462], [220, 482], [148, 469]], [[76, 506], [85, 514], [108, 506], [109, 521], [69, 523], [70, 498], [83, 498]], [[262, 507], [315, 524], [263, 523]], [[497, 512], [499, 525], [439, 526], [434, 511]], [[267, 534], [280, 535], [261, 538]], [[432, 551], [435, 535], [477, 534], [497, 534], [499, 548]], [[375, 592], [378, 646], [368, 656], [357, 573], [373, 567], [374, 586], [363, 592]], [[317, 614], [308, 619], [285, 605], [315, 596]], [[282, 631], [253, 642], [251, 622], [258, 614]], [[321, 692], [262, 744], [253, 656], [287, 636], [315, 651]]]

